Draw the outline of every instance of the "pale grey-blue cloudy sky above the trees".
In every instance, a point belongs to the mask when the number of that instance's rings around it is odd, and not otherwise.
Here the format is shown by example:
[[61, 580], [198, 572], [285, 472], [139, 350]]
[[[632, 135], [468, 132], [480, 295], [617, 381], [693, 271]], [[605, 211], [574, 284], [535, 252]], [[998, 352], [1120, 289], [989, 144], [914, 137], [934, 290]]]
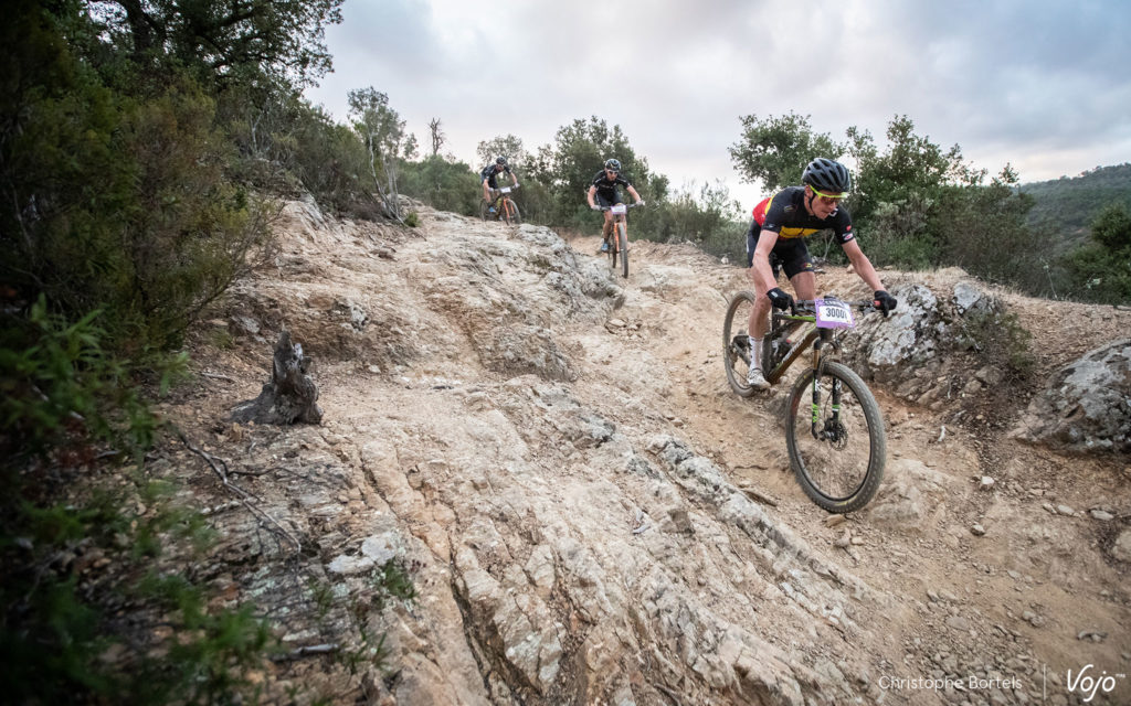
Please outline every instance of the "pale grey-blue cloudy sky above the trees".
[[[1022, 182], [1131, 162], [1126, 0], [345, 0], [335, 71], [307, 96], [339, 121], [354, 88], [386, 93], [421, 145], [478, 168], [476, 146], [528, 151], [596, 115], [673, 188], [723, 180], [739, 117], [811, 116], [882, 147], [895, 115]], [[594, 165], [596, 171], [599, 165]], [[519, 175], [521, 180], [521, 174]], [[644, 194], [647, 199], [647, 194]]]

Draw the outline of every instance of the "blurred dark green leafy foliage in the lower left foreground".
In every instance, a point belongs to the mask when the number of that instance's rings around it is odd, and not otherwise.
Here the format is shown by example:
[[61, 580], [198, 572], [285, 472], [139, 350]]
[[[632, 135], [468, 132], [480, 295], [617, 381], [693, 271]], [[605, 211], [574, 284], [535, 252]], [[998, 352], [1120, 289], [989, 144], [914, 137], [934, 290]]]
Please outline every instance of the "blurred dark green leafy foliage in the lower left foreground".
[[[202, 593], [183, 579], [164, 598], [129, 578], [116, 583], [114, 594], [92, 598], [86, 570], [94, 557], [112, 557], [110, 570], [129, 577], [161, 554], [158, 537], [175, 529], [174, 534], [199, 538], [199, 528], [166, 507], [170, 494], [159, 485], [128, 473], [126, 483], [102, 483], [90, 472], [140, 463], [158, 428], [133, 371], [104, 347], [109, 339], [98, 314], [70, 323], [50, 314], [41, 298], [26, 319], [5, 316], [0, 669], [6, 696], [14, 703], [164, 704], [252, 694], [242, 670], [265, 657], [267, 633], [248, 609], [206, 611]], [[183, 363], [181, 356], [166, 358], [161, 387]], [[137, 502], [150, 512], [123, 509]], [[161, 609], [180, 630], [155, 643], [148, 628], [115, 619], [104, 601]], [[107, 661], [107, 654], [123, 655], [124, 663]]]

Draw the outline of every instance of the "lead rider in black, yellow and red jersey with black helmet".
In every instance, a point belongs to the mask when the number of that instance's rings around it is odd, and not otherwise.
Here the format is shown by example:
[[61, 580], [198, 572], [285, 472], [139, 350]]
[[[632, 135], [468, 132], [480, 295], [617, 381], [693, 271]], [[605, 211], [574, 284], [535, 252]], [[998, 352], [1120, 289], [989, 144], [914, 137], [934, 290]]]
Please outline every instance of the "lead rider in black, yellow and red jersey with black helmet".
[[750, 312], [750, 371], [746, 382], [757, 390], [770, 386], [759, 360], [762, 337], [769, 329], [770, 307], [787, 310], [793, 306], [793, 297], [777, 286], [778, 269], [785, 270], [798, 298], [813, 299], [817, 296], [817, 278], [809, 249], [805, 247], [805, 236], [831, 228], [853, 270], [875, 293], [873, 305], [887, 313], [898, 304], [884, 290], [875, 268], [860, 249], [852, 230], [852, 217], [840, 207], [840, 201], [848, 195], [848, 169], [838, 162], [818, 157], [805, 167], [801, 182], [801, 186], [787, 186], [759, 203], [748, 233], [748, 237], [753, 238], [750, 279], [754, 282], [758, 298]]

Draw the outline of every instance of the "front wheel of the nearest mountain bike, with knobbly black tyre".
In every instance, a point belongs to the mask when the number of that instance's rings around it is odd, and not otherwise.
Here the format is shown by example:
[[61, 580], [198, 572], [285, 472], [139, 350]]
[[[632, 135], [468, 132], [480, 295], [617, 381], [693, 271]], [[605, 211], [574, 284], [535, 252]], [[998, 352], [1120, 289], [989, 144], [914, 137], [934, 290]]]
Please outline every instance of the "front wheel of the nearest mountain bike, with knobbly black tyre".
[[880, 406], [860, 375], [826, 363], [814, 385], [813, 371], [805, 371], [786, 413], [789, 465], [805, 495], [830, 513], [866, 505], [883, 479], [887, 434]]

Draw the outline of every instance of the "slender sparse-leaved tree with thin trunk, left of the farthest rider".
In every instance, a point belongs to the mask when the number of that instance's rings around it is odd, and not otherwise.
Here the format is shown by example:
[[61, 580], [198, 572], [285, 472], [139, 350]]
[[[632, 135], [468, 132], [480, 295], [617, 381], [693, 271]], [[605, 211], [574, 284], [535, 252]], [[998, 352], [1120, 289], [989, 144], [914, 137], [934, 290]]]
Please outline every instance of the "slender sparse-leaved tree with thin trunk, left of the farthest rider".
[[389, 96], [372, 86], [351, 90], [348, 102], [354, 130], [361, 136], [369, 151], [369, 168], [373, 185], [386, 211], [399, 219], [397, 160], [411, 159], [415, 155], [416, 138], [405, 132], [405, 121], [389, 107]]

